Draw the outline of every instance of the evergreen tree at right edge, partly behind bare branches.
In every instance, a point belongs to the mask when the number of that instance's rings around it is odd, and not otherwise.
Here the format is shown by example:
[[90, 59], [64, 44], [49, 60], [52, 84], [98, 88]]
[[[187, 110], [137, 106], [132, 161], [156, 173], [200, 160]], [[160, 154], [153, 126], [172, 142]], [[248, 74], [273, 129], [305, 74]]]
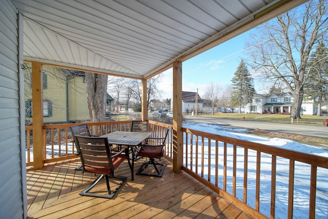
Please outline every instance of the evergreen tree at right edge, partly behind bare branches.
[[328, 97], [328, 48], [321, 41], [309, 58], [309, 77], [304, 85], [305, 99], [318, 105], [317, 115], [321, 115], [321, 104]]

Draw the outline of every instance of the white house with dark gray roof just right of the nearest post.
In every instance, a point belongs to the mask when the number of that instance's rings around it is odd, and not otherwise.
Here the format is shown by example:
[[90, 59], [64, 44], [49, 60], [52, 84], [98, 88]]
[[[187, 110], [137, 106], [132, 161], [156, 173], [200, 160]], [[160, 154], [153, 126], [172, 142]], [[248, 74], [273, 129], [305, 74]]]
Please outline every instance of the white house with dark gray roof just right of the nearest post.
[[197, 104], [197, 112], [203, 111], [203, 102], [199, 94], [196, 92], [182, 91], [182, 113], [195, 112]]

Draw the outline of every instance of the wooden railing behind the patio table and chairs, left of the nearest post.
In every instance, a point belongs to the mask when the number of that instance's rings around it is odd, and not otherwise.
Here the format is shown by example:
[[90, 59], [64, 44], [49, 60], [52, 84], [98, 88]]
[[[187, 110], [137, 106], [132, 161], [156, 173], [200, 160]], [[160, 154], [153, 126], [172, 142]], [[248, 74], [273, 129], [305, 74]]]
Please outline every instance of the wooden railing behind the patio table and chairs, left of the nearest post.
[[[91, 134], [103, 135], [113, 131], [130, 131], [132, 121], [113, 121], [100, 123], [87, 123]], [[75, 146], [73, 136], [70, 131], [71, 126], [76, 126], [81, 123], [71, 124], [56, 124], [44, 125], [44, 163], [51, 163], [61, 160], [69, 160], [76, 158]], [[154, 121], [149, 122], [149, 129], [153, 132], [152, 136], [162, 137], [167, 128], [172, 128], [171, 125], [165, 123], [158, 123]], [[26, 132], [26, 166], [33, 166], [33, 131], [32, 126], [25, 127]], [[172, 161], [172, 132], [169, 134], [166, 147], [166, 158]]]

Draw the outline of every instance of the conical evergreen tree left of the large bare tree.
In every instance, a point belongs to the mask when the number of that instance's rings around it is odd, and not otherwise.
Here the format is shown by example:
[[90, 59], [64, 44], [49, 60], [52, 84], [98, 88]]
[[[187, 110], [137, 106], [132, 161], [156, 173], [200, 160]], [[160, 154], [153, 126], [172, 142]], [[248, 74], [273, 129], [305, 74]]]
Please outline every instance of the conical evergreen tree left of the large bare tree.
[[255, 94], [254, 79], [243, 59], [241, 59], [231, 82], [233, 89], [231, 103], [234, 106], [239, 106], [239, 113], [241, 113], [242, 105], [252, 103]]

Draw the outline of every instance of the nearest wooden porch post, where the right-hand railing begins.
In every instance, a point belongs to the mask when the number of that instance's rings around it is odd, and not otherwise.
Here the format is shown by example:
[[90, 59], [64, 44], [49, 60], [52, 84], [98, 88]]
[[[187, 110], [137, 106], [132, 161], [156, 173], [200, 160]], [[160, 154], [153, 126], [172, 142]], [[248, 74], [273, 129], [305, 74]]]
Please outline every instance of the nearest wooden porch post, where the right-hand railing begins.
[[182, 63], [173, 63], [173, 171], [182, 167]]

